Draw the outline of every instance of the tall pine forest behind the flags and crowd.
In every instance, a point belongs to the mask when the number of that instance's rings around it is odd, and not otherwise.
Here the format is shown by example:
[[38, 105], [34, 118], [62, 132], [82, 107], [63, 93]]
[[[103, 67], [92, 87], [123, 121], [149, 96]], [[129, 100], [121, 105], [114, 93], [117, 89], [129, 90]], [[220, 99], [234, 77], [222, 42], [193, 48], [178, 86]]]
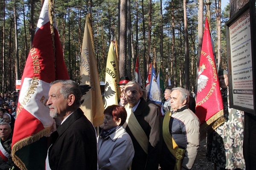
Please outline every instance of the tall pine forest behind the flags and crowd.
[[[15, 80], [22, 77], [43, 1], [0, 1], [2, 92], [15, 91]], [[115, 38], [119, 44], [120, 77], [134, 78], [136, 57], [139, 56], [144, 87], [151, 62], [156, 74], [162, 66], [165, 79], [169, 78], [175, 87], [195, 91], [198, 51], [201, 51], [198, 48], [207, 14], [206, 3], [209, 2], [217, 67], [227, 68], [224, 23], [229, 19], [229, 4], [221, 10], [221, 0], [208, 1], [55, 0], [55, 20], [70, 79], [80, 81], [84, 25], [91, 4], [100, 81], [105, 81], [108, 48]]]

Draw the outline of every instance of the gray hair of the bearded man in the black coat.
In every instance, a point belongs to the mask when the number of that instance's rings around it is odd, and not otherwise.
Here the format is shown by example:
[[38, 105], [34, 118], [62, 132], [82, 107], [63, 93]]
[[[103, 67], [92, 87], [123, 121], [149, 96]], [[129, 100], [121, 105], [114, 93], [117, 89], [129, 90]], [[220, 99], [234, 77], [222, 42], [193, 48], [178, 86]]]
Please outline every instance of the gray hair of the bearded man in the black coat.
[[74, 105], [79, 108], [80, 100], [82, 97], [79, 85], [73, 80], [55, 80], [54, 82], [51, 82], [51, 86], [56, 83], [61, 83], [61, 85], [63, 85], [60, 92], [64, 99], [67, 99], [70, 94], [75, 96]]

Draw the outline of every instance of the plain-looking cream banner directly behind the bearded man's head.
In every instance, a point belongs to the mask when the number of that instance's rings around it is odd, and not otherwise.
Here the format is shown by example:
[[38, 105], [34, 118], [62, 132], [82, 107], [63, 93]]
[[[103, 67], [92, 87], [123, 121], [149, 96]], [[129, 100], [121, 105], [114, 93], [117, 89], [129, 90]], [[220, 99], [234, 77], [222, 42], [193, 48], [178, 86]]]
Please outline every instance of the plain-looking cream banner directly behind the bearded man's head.
[[81, 109], [93, 126], [101, 125], [103, 122], [104, 105], [99, 85], [99, 73], [94, 54], [93, 34], [90, 18], [86, 16], [84, 39], [81, 54], [81, 85], [90, 85], [91, 89], [82, 96]]

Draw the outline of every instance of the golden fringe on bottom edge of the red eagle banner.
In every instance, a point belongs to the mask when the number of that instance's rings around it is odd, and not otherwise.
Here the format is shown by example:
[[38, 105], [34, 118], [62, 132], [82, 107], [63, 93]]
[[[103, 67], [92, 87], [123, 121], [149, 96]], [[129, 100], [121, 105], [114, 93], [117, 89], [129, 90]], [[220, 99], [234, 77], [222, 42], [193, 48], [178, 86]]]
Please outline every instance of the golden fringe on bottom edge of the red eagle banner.
[[206, 132], [210, 133], [212, 130], [215, 130], [217, 127], [222, 125], [226, 121], [224, 117], [223, 109], [218, 111], [214, 116], [208, 119], [204, 124], [200, 126], [200, 136], [203, 138], [206, 136]]

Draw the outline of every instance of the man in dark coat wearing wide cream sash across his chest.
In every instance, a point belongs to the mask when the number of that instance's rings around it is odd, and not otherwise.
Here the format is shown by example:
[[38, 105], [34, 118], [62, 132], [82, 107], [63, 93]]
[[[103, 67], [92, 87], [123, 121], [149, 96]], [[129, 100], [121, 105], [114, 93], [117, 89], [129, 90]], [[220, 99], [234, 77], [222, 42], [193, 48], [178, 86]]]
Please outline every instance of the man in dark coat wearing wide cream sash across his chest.
[[137, 82], [125, 85], [128, 104], [126, 132], [134, 145], [132, 170], [158, 170], [160, 155], [160, 115], [158, 107], [142, 98], [141, 87]]

